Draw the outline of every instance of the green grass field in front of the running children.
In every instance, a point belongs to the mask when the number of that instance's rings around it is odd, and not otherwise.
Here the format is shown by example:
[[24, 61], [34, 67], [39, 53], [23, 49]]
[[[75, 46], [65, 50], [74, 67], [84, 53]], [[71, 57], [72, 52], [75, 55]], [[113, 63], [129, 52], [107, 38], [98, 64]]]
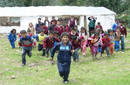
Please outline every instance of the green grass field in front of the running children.
[[[88, 49], [86, 57], [71, 64], [68, 85], [130, 85], [130, 34], [126, 39], [125, 53], [114, 52], [111, 58], [92, 61]], [[0, 85], [64, 85], [59, 77], [56, 57], [52, 65], [49, 58], [33, 49], [33, 56], [27, 59], [27, 66], [21, 66], [22, 50], [12, 49], [9, 41], [0, 36]]]

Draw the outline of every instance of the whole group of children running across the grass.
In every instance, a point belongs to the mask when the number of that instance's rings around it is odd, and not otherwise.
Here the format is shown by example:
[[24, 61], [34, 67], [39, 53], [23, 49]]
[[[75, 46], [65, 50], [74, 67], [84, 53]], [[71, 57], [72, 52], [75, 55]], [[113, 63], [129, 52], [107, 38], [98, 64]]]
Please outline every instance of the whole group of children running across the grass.
[[[46, 20], [47, 21], [47, 20]], [[45, 22], [46, 22], [45, 21]], [[81, 27], [79, 31], [75, 25], [75, 19], [72, 18], [69, 21], [69, 25], [62, 26], [60, 20], [53, 20], [46, 25], [41, 22], [41, 18], [38, 18], [38, 24], [35, 29], [30, 24], [31, 28], [28, 30], [21, 30], [19, 34], [19, 46], [22, 47], [22, 64], [26, 65], [26, 54], [29, 57], [32, 56], [32, 47], [36, 47], [36, 41], [38, 43], [38, 51], [42, 51], [42, 56], [51, 58], [53, 61], [54, 54], [58, 51], [57, 64], [60, 76], [64, 79], [64, 83], [68, 83], [68, 76], [70, 72], [71, 56], [73, 61], [79, 61], [79, 50], [83, 56], [87, 55], [87, 47], [90, 47], [93, 60], [97, 59], [97, 53], [102, 54], [104, 50], [107, 56], [113, 55], [113, 50], [119, 51], [121, 40], [121, 50], [124, 51], [124, 35], [127, 36], [126, 28], [120, 23], [116, 30], [112, 29], [104, 32], [103, 29], [95, 28], [95, 32], [88, 36], [88, 33], [84, 27]], [[100, 23], [98, 23], [99, 25]], [[36, 34], [34, 33], [36, 30]], [[11, 30], [8, 39], [12, 48], [15, 48], [16, 30]], [[115, 41], [115, 42], [114, 42]], [[113, 46], [114, 45], [114, 46]]]

